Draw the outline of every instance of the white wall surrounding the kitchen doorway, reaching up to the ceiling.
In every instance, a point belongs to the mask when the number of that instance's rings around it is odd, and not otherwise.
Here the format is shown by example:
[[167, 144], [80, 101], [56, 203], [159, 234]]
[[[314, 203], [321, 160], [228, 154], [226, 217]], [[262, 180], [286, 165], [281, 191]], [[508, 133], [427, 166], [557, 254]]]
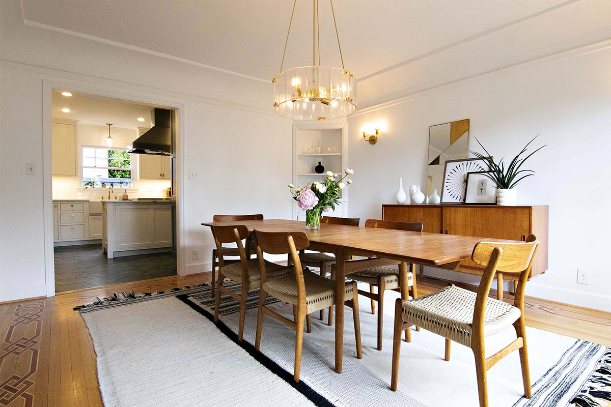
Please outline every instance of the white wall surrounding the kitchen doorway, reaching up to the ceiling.
[[[291, 121], [273, 112], [271, 84], [24, 26], [19, 10], [18, 2], [2, 2], [0, 301], [46, 292], [44, 80], [183, 106], [181, 160], [185, 171], [199, 171], [199, 181], [185, 181], [181, 201], [187, 272], [210, 270], [213, 242], [200, 223], [214, 214], [291, 216], [285, 186], [291, 179]], [[25, 175], [29, 162], [34, 176]], [[199, 261], [192, 261], [194, 249]]]

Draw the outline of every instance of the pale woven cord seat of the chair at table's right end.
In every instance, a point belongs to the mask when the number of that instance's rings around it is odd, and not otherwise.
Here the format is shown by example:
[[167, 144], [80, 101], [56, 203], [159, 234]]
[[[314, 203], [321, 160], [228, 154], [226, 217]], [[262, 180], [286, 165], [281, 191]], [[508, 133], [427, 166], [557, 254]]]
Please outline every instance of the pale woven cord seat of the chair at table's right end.
[[[404, 301], [403, 321], [470, 347], [476, 297], [475, 292], [448, 286], [424, 297]], [[511, 326], [520, 315], [520, 310], [513, 305], [488, 298], [484, 336]]]

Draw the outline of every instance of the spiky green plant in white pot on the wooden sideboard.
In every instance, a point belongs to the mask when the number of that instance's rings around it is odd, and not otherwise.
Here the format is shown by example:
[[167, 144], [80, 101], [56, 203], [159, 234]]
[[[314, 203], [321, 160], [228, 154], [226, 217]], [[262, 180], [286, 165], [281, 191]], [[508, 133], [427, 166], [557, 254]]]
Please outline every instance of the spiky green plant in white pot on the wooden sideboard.
[[488, 164], [490, 171], [484, 173], [483, 175], [490, 178], [492, 182], [496, 184], [497, 205], [514, 206], [516, 204], [516, 197], [518, 195], [518, 191], [515, 189], [516, 185], [518, 185], [518, 183], [522, 181], [522, 179], [535, 175], [535, 171], [533, 170], [521, 170], [520, 168], [522, 167], [524, 162], [526, 162], [526, 160], [530, 158], [530, 156], [535, 154], [537, 151], [539, 151], [546, 145], [537, 148], [535, 151], [533, 151], [524, 158], [520, 157], [522, 156], [522, 154], [526, 153], [530, 143], [535, 141], [537, 137], [539, 137], [538, 134], [532, 140], [530, 140], [530, 142], [528, 142], [527, 145], [524, 146], [524, 148], [522, 148], [522, 151], [520, 151], [517, 156], [513, 157], [513, 160], [511, 160], [507, 168], [505, 167], [505, 162], [503, 162], [505, 160], [504, 157], [500, 159], [498, 163], [494, 162], [492, 155], [488, 153], [488, 150], [480, 143], [480, 140], [477, 140], [477, 137], [475, 137], [475, 140], [481, 146], [481, 148], [483, 148], [486, 155], [477, 153], [477, 151], [472, 150], [471, 153], [475, 154], [475, 156], [477, 156], [478, 158], [485, 160], [485, 162]]

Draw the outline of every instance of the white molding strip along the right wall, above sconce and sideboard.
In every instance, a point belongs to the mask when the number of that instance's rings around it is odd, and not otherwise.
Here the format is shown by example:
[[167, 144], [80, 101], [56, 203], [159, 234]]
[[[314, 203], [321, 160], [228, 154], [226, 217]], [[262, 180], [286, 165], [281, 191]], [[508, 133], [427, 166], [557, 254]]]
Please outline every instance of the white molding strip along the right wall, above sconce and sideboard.
[[515, 65], [510, 65], [508, 67], [502, 67], [496, 70], [486, 71], [484, 73], [476, 74], [473, 76], [463, 77], [462, 79], [458, 79], [456, 81], [447, 82], [442, 85], [436, 85], [430, 88], [426, 88], [425, 90], [420, 90], [419, 92], [410, 93], [409, 95], [401, 96], [400, 98], [391, 99], [386, 102], [374, 104], [373, 106], [365, 107], [364, 109], [359, 109], [354, 112], [349, 117], [354, 117], [358, 115], [364, 115], [366, 113], [375, 112], [376, 110], [386, 109], [387, 107], [396, 106], [398, 104], [406, 103], [412, 99], [419, 98], [420, 96], [427, 95], [429, 93], [441, 92], [442, 90], [446, 90], [447, 88], [452, 88], [456, 86], [461, 86], [467, 84], [469, 82], [479, 81], [484, 77], [489, 77], [495, 74], [504, 74], [511, 71], [524, 70], [527, 68], [535, 67], [536, 65], [542, 65], [544, 63], [551, 62], [559, 62], [566, 59], [576, 58], [585, 56], [587, 54], [591, 54], [593, 52], [604, 51], [605, 49], [611, 48], [611, 38], [599, 41], [597, 43], [593, 43], [590, 45], [584, 45], [577, 48], [569, 49], [568, 51], [558, 52], [557, 54], [551, 54], [548, 56], [532, 59], [526, 62], [516, 63]]

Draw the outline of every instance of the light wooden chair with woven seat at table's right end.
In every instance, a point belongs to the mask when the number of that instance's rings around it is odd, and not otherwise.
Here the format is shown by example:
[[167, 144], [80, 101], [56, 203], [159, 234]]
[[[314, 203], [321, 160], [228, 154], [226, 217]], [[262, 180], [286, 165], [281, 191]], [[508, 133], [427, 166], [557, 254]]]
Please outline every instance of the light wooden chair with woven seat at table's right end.
[[[524, 323], [524, 289], [538, 245], [539, 242], [533, 234], [523, 243], [477, 243], [471, 259], [486, 267], [477, 293], [451, 285], [411, 301], [398, 299], [395, 304], [390, 389], [397, 390], [401, 331], [411, 325], [418, 325], [445, 337], [446, 361], [450, 360], [452, 340], [471, 348], [475, 356], [480, 407], [488, 406], [486, 371], [516, 349], [520, 353], [524, 397], [530, 398], [532, 392]], [[513, 305], [488, 297], [492, 279], [497, 272], [513, 275], [518, 279]], [[516, 330], [516, 339], [486, 358], [484, 338], [510, 325]]]

